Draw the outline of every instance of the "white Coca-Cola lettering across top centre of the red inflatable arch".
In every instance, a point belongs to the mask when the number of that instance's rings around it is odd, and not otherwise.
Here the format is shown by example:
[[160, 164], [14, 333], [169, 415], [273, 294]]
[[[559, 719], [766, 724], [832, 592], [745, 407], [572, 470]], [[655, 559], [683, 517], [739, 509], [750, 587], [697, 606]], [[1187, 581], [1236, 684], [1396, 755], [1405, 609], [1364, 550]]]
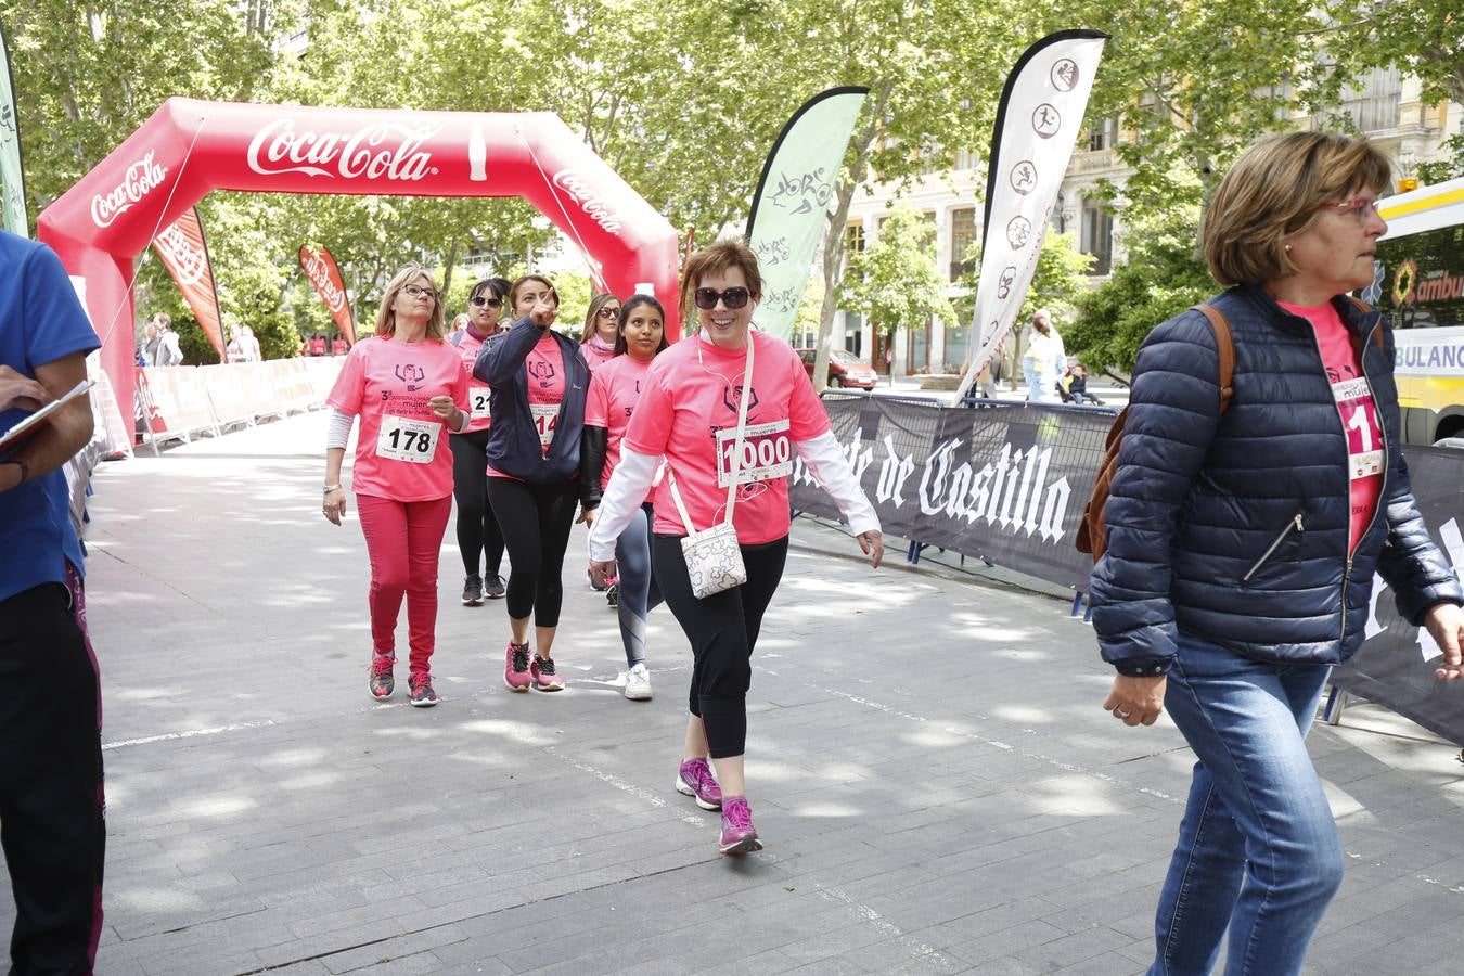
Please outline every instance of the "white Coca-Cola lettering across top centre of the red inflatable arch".
[[264, 176], [305, 173], [347, 180], [416, 181], [433, 176], [432, 154], [422, 143], [438, 135], [427, 126], [379, 121], [353, 133], [296, 132], [293, 119], [280, 119], [249, 142], [249, 168]]

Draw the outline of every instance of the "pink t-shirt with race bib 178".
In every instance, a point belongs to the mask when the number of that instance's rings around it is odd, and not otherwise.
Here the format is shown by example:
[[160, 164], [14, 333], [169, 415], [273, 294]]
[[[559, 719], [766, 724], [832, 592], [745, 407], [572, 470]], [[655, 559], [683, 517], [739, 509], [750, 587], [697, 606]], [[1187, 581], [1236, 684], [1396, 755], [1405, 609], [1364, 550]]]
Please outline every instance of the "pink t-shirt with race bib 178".
[[451, 397], [467, 410], [467, 370], [447, 342], [378, 338], [357, 342], [325, 402], [360, 417], [351, 487], [398, 502], [425, 502], [452, 493], [452, 452], [447, 421], [427, 399]]

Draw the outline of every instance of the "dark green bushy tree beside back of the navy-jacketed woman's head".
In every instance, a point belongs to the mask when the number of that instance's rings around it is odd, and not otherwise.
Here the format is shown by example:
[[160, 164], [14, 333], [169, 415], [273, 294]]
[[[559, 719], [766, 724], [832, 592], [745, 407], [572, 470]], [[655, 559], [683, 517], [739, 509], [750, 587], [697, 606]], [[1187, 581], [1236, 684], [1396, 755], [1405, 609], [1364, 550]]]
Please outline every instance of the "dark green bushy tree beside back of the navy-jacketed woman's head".
[[1129, 259], [1108, 281], [1078, 297], [1078, 322], [1063, 337], [1067, 353], [1092, 372], [1130, 372], [1155, 325], [1217, 290], [1195, 253], [1198, 234], [1198, 206], [1133, 215], [1124, 230]]

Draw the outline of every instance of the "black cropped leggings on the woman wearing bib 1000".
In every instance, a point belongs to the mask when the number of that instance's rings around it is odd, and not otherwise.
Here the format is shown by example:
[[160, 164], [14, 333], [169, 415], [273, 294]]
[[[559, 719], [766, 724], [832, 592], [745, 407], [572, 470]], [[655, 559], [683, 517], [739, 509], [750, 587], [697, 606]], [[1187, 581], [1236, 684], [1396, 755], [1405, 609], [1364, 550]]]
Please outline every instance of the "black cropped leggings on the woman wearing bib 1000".
[[681, 536], [653, 536], [650, 552], [666, 606], [691, 641], [691, 714], [707, 727], [713, 759], [747, 749], [747, 689], [752, 683], [752, 648], [763, 613], [783, 578], [788, 536], [763, 546], [741, 546], [747, 582], [698, 600], [691, 593]]

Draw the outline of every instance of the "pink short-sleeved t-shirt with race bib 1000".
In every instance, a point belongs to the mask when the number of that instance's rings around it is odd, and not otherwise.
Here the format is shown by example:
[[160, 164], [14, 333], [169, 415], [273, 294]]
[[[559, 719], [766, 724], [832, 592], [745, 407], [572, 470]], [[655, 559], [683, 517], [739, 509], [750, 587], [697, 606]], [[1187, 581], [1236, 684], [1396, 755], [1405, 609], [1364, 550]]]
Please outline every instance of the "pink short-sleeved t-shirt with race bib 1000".
[[[757, 351], [752, 389], [745, 392], [747, 432], [732, 521], [738, 541], [757, 546], [788, 534], [793, 445], [826, 433], [829, 414], [786, 342], [763, 332], [748, 332], [748, 338]], [[651, 363], [625, 432], [631, 451], [666, 455], [697, 531], [723, 518], [745, 366], [745, 350], [723, 350], [701, 335], [676, 342]], [[669, 477], [656, 490], [654, 531], [687, 534]]]

